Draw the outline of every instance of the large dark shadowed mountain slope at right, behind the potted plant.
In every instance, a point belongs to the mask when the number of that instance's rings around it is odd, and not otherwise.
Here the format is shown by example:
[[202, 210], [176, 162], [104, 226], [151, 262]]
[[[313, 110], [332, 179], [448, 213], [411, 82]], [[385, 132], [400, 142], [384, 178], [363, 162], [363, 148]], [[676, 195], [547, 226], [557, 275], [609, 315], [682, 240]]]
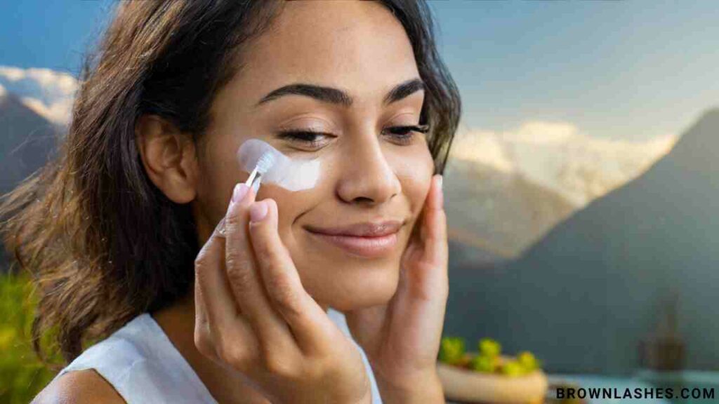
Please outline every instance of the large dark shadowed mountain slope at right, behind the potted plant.
[[666, 314], [661, 302], [676, 296], [686, 367], [717, 369], [716, 150], [719, 109], [710, 109], [646, 173], [569, 216], [517, 260], [456, 269], [445, 334], [493, 336], [509, 352], [531, 350], [551, 371], [631, 372], [639, 341]]

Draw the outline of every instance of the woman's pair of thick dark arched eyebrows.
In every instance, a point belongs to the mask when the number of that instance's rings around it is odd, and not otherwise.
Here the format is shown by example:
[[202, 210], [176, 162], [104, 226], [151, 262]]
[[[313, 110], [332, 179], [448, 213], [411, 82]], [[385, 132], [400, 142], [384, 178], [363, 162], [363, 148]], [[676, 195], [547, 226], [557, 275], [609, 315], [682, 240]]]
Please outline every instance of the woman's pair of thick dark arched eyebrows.
[[[400, 101], [403, 98], [416, 93], [417, 91], [423, 91], [425, 89], [424, 82], [421, 78], [411, 78], [408, 81], [394, 86], [383, 100], [383, 104], [388, 105], [393, 102]], [[255, 104], [255, 108], [265, 104], [269, 101], [276, 100], [283, 96], [307, 96], [314, 98], [318, 101], [326, 102], [329, 104], [335, 104], [340, 106], [352, 106], [354, 100], [352, 96], [334, 87], [316, 86], [314, 84], [307, 83], [293, 83], [288, 86], [282, 86], [274, 91], [271, 91], [266, 96]]]

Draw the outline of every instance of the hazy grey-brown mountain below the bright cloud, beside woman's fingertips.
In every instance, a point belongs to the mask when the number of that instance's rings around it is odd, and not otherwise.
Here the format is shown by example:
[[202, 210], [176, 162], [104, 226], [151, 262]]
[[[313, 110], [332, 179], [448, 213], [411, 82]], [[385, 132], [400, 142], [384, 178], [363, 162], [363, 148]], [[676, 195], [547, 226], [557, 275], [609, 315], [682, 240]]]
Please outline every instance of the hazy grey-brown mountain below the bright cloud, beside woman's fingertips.
[[450, 239], [498, 256], [514, 257], [575, 210], [566, 198], [470, 160], [450, 160], [445, 170], [445, 205]]

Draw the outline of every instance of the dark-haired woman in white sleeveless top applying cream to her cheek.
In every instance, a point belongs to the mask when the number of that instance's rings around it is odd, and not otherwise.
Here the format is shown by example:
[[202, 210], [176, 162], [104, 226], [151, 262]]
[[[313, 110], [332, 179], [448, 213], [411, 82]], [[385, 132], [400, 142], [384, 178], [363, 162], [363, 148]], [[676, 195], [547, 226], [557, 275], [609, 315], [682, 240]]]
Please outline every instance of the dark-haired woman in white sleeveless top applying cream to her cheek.
[[[444, 402], [460, 103], [426, 4], [128, 1], [97, 55], [2, 210], [35, 349], [71, 362], [35, 402]], [[316, 186], [255, 195], [248, 139], [321, 158]]]

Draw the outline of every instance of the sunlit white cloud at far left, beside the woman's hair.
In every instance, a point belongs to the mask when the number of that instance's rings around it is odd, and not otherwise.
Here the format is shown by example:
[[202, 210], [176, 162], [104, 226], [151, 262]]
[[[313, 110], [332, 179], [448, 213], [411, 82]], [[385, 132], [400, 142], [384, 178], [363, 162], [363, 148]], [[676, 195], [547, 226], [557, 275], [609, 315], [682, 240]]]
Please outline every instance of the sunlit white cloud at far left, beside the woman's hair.
[[0, 65], [0, 86], [17, 94], [23, 104], [50, 121], [69, 123], [78, 88], [73, 75], [45, 68]]

